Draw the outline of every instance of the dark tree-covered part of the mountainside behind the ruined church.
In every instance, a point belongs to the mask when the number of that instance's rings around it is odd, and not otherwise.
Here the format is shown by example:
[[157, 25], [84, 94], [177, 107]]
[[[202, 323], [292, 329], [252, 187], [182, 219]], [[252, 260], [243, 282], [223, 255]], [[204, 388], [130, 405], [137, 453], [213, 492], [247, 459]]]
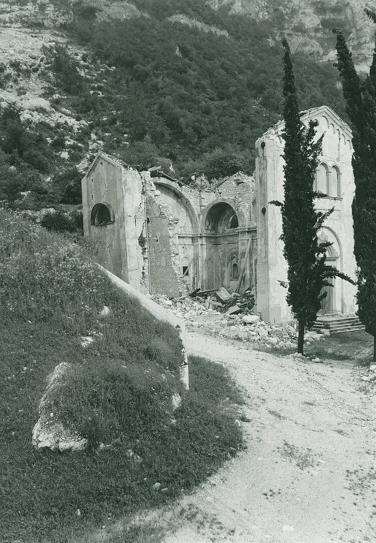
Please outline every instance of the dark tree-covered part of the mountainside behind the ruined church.
[[[134, 5], [143, 15], [99, 21], [100, 3], [76, 2], [73, 22], [62, 23], [60, 30], [86, 53], [46, 48], [45, 98], [89, 123], [67, 133], [73, 140], [68, 161], [58, 157], [64, 126], [26, 128], [16, 114], [2, 111], [0, 161], [5, 170], [15, 165], [21, 175], [16, 193], [40, 188], [49, 176], [50, 199], [78, 202], [80, 174], [74, 166], [89, 152], [92, 134], [107, 153], [139, 168], [162, 165], [182, 182], [191, 182], [193, 173], [209, 180], [239, 170], [253, 173], [254, 142], [283, 107], [278, 12], [256, 22], [215, 11], [203, 0], [135, 0]], [[302, 107], [327, 104], [346, 120], [333, 63], [304, 53], [293, 62]], [[35, 153], [28, 153], [33, 146]], [[44, 194], [47, 188], [42, 186]]]

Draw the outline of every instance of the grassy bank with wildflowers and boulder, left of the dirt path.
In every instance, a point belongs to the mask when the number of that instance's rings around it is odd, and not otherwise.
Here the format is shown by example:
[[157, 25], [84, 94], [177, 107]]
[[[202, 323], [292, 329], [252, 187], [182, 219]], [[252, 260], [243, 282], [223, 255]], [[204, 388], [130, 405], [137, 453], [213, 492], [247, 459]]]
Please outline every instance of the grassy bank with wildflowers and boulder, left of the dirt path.
[[[3, 211], [0, 312], [2, 540], [70, 541], [193, 488], [241, 446], [230, 408], [241, 395], [222, 367], [192, 359], [184, 394], [174, 329], [112, 287], [77, 245]], [[89, 331], [103, 336], [85, 350], [79, 337]], [[46, 377], [60, 362], [72, 371], [52, 411], [89, 438], [84, 453], [31, 445]], [[171, 425], [174, 390], [183, 402]], [[111, 449], [99, 451], [101, 441]], [[155, 492], [155, 482], [168, 490]]]

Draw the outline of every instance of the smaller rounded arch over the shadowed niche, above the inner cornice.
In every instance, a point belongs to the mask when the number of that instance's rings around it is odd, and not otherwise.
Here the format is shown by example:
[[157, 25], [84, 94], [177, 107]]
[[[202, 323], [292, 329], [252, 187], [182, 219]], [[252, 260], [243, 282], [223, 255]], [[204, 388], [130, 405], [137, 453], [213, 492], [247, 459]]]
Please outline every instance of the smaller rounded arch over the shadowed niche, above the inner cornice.
[[233, 200], [219, 198], [206, 206], [201, 224], [203, 232], [223, 233], [245, 225], [245, 220]]

